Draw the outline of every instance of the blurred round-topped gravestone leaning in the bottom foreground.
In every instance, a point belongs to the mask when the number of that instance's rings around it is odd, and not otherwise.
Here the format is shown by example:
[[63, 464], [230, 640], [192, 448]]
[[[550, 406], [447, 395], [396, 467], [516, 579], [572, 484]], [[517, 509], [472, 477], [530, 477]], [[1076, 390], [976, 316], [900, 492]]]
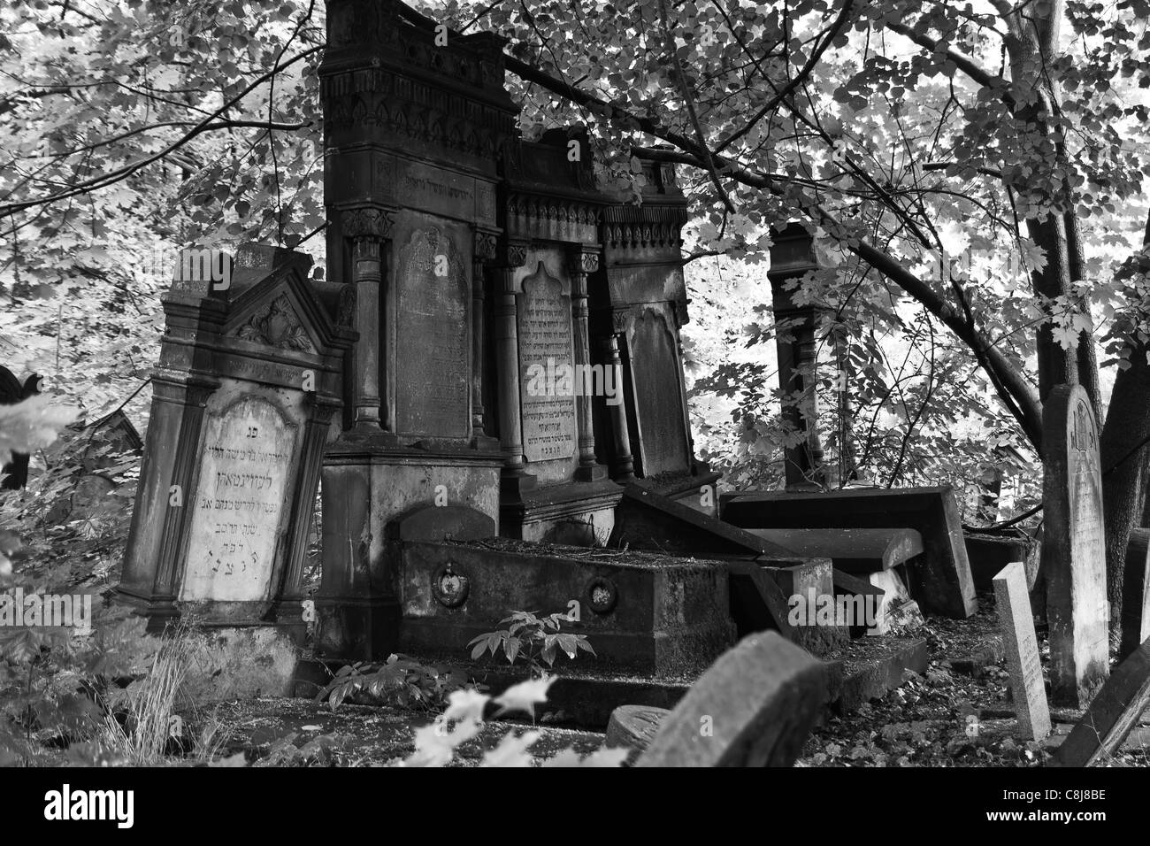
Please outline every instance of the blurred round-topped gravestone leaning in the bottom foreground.
[[744, 638], [692, 685], [637, 767], [790, 767], [827, 701], [827, 673], [775, 632]]

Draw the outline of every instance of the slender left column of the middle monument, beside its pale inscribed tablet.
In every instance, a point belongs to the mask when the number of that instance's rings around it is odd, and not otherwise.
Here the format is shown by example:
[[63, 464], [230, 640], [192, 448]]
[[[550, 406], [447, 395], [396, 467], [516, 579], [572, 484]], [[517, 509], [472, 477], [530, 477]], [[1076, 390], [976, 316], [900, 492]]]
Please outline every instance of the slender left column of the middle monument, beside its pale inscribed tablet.
[[[514, 268], [527, 261], [526, 244], [509, 244], [499, 269], [499, 292], [496, 296], [496, 359], [499, 392], [499, 441], [507, 460], [503, 475], [506, 480], [528, 478], [523, 456], [523, 426], [519, 403], [519, 327], [515, 323]], [[534, 477], [530, 477], [534, 479]], [[523, 487], [522, 482], [519, 482]]]

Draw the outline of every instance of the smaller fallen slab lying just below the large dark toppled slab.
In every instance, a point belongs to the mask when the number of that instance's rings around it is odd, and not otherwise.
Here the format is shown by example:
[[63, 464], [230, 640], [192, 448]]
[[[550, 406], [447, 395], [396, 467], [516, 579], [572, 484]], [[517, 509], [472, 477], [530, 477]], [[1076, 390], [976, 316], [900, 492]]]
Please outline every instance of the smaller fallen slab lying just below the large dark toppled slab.
[[804, 557], [830, 558], [837, 570], [890, 570], [922, 554], [913, 528], [752, 528], [751, 534]]

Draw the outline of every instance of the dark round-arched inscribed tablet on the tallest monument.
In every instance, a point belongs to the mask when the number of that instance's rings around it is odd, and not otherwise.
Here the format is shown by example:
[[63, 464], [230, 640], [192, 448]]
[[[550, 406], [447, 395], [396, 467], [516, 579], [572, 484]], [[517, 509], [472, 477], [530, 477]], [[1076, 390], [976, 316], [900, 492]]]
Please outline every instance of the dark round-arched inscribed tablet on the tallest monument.
[[470, 434], [469, 273], [451, 235], [429, 226], [400, 249], [396, 425], [400, 434]]

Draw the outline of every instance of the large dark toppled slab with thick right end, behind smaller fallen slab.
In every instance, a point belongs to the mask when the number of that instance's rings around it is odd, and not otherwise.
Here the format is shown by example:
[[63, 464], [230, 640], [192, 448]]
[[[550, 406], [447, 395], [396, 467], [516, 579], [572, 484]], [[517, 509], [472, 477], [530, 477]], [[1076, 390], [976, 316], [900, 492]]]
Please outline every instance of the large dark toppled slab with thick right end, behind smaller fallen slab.
[[911, 596], [927, 613], [963, 619], [976, 610], [963, 526], [950, 487], [820, 493], [765, 490], [720, 496], [720, 516], [742, 528], [913, 528], [921, 563], [908, 567]]

